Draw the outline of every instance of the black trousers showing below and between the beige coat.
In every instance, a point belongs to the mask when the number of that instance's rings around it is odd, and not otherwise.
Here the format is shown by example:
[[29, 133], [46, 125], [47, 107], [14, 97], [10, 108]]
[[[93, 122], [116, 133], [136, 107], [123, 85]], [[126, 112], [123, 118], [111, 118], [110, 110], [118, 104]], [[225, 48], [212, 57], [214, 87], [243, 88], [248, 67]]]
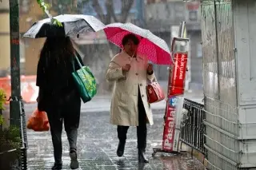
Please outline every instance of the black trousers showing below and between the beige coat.
[[[126, 134], [129, 126], [118, 125], [118, 139], [120, 142], [126, 142]], [[146, 111], [142, 102], [142, 97], [138, 93], [138, 126], [137, 126], [137, 143], [138, 149], [146, 149]]]

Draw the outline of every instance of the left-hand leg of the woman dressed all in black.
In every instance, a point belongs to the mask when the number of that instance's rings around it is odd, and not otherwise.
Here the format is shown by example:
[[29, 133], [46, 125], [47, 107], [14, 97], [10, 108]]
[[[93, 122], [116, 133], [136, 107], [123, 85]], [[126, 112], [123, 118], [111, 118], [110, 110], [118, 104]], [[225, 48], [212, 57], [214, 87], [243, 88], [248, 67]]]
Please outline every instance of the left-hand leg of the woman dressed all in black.
[[62, 118], [58, 117], [58, 110], [48, 110], [47, 117], [50, 124], [50, 133], [52, 137], [52, 142], [54, 145], [54, 160], [55, 168], [58, 169], [62, 165]]

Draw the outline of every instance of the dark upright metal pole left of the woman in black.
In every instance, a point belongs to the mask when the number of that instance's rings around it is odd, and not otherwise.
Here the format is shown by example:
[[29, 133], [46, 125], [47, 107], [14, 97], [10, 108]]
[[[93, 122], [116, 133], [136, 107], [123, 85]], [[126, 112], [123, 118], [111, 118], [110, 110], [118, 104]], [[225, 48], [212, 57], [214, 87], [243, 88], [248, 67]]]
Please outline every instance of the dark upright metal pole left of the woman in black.
[[10, 125], [20, 126], [20, 53], [19, 53], [19, 4], [10, 0]]

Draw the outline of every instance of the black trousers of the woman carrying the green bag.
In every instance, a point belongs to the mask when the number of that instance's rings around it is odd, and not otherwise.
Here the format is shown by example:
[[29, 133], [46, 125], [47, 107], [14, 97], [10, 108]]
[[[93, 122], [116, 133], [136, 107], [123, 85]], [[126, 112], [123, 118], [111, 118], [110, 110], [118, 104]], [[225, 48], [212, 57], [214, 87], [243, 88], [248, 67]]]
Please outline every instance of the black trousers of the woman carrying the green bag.
[[81, 100], [77, 93], [73, 93], [66, 99], [56, 99], [46, 107], [46, 113], [50, 123], [50, 133], [54, 145], [55, 163], [62, 163], [62, 127], [66, 131], [70, 151], [77, 150], [78, 126], [80, 121]]

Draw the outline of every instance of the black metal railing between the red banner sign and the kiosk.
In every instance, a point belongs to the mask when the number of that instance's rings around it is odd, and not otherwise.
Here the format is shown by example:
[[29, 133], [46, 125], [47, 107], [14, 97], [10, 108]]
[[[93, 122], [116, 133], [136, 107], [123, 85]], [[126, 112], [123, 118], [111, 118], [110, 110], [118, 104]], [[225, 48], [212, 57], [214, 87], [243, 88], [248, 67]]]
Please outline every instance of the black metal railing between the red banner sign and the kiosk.
[[205, 129], [203, 121], [206, 119], [204, 106], [188, 99], [184, 100], [183, 108], [188, 110], [185, 125], [181, 129], [180, 141], [191, 148], [205, 154]]

